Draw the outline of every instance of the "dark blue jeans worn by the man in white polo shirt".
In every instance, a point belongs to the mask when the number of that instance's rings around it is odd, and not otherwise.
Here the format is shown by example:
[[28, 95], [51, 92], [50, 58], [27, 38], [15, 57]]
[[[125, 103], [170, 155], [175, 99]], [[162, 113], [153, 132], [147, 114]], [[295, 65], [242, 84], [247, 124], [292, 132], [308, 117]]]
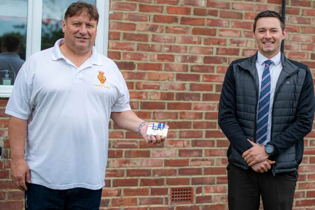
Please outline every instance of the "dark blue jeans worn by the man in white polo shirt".
[[99, 210], [102, 188], [50, 189], [27, 183], [25, 210]]

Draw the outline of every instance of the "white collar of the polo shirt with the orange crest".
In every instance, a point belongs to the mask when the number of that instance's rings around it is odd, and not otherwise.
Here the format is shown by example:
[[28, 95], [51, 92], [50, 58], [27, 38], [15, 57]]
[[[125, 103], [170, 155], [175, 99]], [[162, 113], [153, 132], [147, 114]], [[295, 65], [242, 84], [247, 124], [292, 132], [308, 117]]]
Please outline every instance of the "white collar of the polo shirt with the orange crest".
[[[53, 54], [52, 54], [52, 60], [58, 60], [58, 59], [65, 59], [65, 57], [63, 56], [63, 53], [60, 50], [60, 45], [64, 43], [64, 38], [58, 39], [55, 42], [55, 45], [53, 47]], [[91, 64], [95, 64], [95, 65], [103, 65], [102, 60], [100, 59], [100, 57], [98, 56], [98, 53], [96, 51], [96, 48], [93, 46], [92, 48], [92, 55], [90, 57], [90, 62]]]

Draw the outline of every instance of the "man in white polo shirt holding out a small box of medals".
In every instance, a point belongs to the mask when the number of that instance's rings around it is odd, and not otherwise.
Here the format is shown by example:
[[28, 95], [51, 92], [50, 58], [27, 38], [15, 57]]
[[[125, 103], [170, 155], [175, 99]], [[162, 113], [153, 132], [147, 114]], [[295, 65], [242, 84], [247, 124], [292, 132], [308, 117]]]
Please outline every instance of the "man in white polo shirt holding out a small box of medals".
[[26, 210], [99, 209], [110, 118], [147, 142], [165, 140], [146, 135], [118, 67], [93, 47], [97, 22], [94, 5], [72, 3], [64, 39], [32, 55], [16, 79], [5, 113], [11, 176], [25, 190]]

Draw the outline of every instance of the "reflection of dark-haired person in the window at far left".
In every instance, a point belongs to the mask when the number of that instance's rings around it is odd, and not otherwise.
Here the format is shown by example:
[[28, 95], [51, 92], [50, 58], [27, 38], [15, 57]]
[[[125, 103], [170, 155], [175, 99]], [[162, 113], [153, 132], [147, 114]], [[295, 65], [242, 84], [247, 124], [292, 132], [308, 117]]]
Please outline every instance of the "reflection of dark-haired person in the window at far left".
[[7, 35], [2, 42], [0, 54], [0, 85], [13, 85], [15, 77], [24, 63], [19, 56], [21, 40], [14, 35]]

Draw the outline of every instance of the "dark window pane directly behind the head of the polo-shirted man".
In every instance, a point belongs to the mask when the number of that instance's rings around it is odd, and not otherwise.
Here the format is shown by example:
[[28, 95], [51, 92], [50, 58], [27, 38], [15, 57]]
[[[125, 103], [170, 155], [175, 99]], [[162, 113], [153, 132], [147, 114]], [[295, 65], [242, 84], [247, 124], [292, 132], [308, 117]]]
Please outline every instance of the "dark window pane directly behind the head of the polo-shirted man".
[[[54, 46], [63, 37], [63, 15], [68, 6], [77, 0], [43, 0], [41, 50]], [[85, 0], [96, 5], [96, 0]]]

